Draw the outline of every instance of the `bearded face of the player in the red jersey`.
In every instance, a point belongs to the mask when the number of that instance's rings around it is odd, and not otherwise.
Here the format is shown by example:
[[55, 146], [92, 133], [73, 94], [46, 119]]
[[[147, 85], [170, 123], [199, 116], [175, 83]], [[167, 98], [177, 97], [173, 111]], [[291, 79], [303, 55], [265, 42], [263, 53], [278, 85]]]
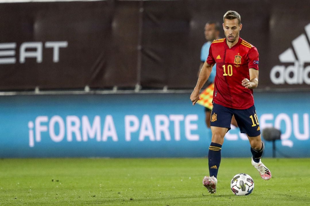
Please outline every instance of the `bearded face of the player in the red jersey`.
[[239, 32], [242, 24], [238, 24], [238, 19], [224, 19], [223, 28], [228, 42], [233, 43], [239, 40]]

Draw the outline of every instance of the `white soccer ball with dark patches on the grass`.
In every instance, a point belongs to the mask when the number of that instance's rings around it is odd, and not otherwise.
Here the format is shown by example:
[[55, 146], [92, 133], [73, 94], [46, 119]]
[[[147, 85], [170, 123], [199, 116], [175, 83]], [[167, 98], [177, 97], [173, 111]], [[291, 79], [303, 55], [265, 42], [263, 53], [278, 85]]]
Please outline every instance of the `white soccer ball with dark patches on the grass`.
[[254, 181], [248, 174], [236, 174], [230, 182], [230, 188], [235, 195], [250, 195], [254, 190]]

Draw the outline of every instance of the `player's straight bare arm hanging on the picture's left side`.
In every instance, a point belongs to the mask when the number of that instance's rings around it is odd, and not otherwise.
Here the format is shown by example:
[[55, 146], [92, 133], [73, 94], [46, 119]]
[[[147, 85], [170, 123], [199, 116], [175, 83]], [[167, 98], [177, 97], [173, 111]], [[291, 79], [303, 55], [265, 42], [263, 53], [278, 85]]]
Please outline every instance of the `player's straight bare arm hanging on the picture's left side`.
[[193, 105], [195, 105], [196, 102], [200, 99], [199, 92], [200, 92], [202, 86], [208, 80], [213, 65], [214, 64], [212, 64], [212, 65], [208, 64], [207, 61], [205, 61], [205, 63], [203, 64], [203, 66], [201, 68], [201, 71], [200, 71], [200, 74], [199, 74], [199, 77], [198, 77], [197, 84], [196, 84], [196, 86], [195, 86], [195, 88], [194, 88], [194, 90], [193, 90], [193, 92], [191, 94], [191, 97], [190, 97]]

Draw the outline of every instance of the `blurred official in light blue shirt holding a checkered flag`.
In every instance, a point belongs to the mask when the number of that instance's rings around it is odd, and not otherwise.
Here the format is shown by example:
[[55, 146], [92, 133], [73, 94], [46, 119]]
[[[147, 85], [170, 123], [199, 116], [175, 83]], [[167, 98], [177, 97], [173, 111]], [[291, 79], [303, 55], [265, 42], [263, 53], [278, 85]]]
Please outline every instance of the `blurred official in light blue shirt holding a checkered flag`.
[[[203, 44], [201, 48], [201, 54], [200, 54], [200, 66], [199, 66], [199, 71], [198, 71], [198, 76], [201, 72], [201, 68], [205, 61], [208, 58], [209, 55], [209, 49], [210, 45], [213, 40], [219, 39], [219, 32], [220, 32], [220, 24], [219, 22], [212, 22], [209, 21], [205, 25], [205, 38], [207, 42]], [[211, 118], [211, 111], [212, 111], [212, 99], [213, 99], [213, 90], [214, 90], [214, 78], [216, 74], [216, 64], [212, 67], [211, 74], [208, 78], [207, 81], [207, 88], [201, 92], [200, 100], [197, 102], [198, 104], [201, 104], [202, 106], [205, 107], [205, 114], [206, 114], [206, 125], [207, 128], [210, 128], [210, 118]], [[235, 127], [238, 127], [237, 122], [235, 120], [235, 117], [232, 116], [232, 121], [231, 124], [234, 125]]]

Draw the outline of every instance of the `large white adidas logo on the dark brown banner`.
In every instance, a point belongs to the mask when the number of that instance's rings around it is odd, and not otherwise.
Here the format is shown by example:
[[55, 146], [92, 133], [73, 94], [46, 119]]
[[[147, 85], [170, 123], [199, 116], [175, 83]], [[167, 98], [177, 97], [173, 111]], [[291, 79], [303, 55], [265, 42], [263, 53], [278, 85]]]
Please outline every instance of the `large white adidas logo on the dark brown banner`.
[[[306, 34], [299, 35], [292, 41], [293, 48], [286, 49], [279, 55], [281, 63], [292, 65], [275, 65], [270, 71], [270, 79], [274, 84], [309, 84], [310, 66], [304, 68], [305, 63], [310, 63], [310, 23], [305, 26]], [[308, 37], [308, 40], [307, 40]], [[295, 56], [296, 55], [296, 56]]]

